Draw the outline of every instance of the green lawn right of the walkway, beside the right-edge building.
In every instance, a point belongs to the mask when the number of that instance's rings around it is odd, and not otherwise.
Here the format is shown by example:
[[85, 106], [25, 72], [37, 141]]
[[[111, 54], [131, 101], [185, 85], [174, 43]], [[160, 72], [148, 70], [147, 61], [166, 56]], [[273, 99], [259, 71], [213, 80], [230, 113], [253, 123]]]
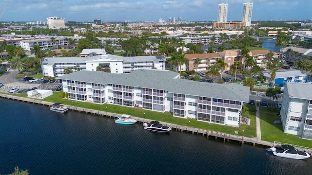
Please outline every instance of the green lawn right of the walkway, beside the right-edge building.
[[[264, 107], [266, 108], [266, 107]], [[260, 108], [260, 111], [263, 109]], [[291, 143], [300, 146], [312, 147], [312, 140], [300, 139], [295, 135], [287, 135], [283, 131], [281, 124], [274, 124], [275, 120], [280, 120], [280, 117], [275, 113], [260, 112], [261, 124], [261, 139], [265, 141], [279, 141], [282, 143]]]

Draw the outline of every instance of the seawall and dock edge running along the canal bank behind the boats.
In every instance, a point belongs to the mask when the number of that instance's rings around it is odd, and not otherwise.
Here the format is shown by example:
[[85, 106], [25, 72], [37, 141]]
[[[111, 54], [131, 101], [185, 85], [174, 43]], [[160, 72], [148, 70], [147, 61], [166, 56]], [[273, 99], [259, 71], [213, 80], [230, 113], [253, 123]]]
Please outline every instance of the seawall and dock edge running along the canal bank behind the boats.
[[[25, 102], [25, 103], [32, 103], [32, 104], [43, 105], [43, 106], [51, 106], [52, 104], [54, 104], [52, 102], [46, 102], [43, 100], [18, 97], [18, 96], [13, 96], [13, 95], [9, 95], [9, 94], [3, 94], [3, 93], [0, 93], [0, 97], [4, 98], [4, 99], [20, 101], [20, 102]], [[67, 106], [69, 108], [69, 110], [71, 110], [71, 111], [83, 112], [86, 114], [98, 115], [98, 116], [114, 118], [114, 119], [121, 115], [121, 114], [116, 114], [116, 113], [111, 113], [111, 112], [105, 112], [105, 111], [99, 111], [99, 110], [88, 109], [88, 108], [83, 108], [83, 107], [77, 107], [77, 106], [73, 106], [73, 105], [64, 105], [64, 106]], [[132, 118], [136, 119], [138, 121], [138, 124], [149, 123], [152, 121], [152, 120], [148, 120], [148, 119], [144, 119], [144, 118], [139, 118], [136, 116], [132, 116]], [[264, 147], [273, 147], [274, 146], [274, 142], [257, 140], [257, 138], [248, 138], [248, 137], [244, 137], [244, 136], [237, 136], [237, 135], [226, 134], [226, 133], [221, 133], [221, 132], [216, 132], [216, 131], [211, 131], [211, 130], [206, 130], [206, 129], [182, 126], [182, 125], [177, 125], [177, 124], [173, 124], [173, 123], [165, 123], [165, 122], [161, 122], [161, 123], [166, 125], [166, 126], [172, 127], [173, 130], [176, 130], [177, 132], [190, 133], [193, 135], [206, 137], [207, 139], [223, 140], [223, 142], [236, 141], [241, 145], [250, 144], [253, 146], [262, 146], [262, 147], [263, 146]], [[312, 153], [312, 150], [306, 150], [306, 151], [309, 151], [309, 153]]]

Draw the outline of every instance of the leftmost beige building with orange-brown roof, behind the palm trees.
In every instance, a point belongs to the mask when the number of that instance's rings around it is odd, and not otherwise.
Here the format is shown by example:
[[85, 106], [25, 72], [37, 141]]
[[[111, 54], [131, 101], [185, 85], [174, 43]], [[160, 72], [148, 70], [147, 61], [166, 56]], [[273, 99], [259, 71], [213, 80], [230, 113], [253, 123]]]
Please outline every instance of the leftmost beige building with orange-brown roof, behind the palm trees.
[[[193, 53], [185, 54], [185, 58], [189, 59], [188, 70], [207, 71], [210, 64], [215, 64], [216, 60], [221, 58], [218, 53]], [[200, 64], [195, 65], [195, 59], [200, 58]]]

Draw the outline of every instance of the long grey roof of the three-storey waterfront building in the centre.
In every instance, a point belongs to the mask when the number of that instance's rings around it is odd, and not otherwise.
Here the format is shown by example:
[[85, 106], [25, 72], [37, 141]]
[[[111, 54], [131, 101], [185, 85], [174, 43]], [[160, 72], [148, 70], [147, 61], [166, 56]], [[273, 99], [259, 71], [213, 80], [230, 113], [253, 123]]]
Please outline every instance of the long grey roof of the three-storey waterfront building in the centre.
[[167, 90], [170, 93], [211, 97], [233, 101], [248, 102], [249, 87], [195, 82], [178, 79], [179, 73], [170, 70], [139, 69], [131, 73], [107, 73], [82, 70], [63, 75], [58, 79], [74, 80], [97, 84], [116, 84], [140, 88]]

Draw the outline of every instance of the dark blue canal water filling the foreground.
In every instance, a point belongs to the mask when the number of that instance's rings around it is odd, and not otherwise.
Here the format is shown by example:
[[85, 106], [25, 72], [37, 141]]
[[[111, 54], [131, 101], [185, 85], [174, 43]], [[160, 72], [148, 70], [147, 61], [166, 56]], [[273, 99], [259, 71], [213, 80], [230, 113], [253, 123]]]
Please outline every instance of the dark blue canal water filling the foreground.
[[0, 99], [0, 174], [308, 175], [312, 159], [274, 157], [264, 148], [223, 143], [141, 124]]

